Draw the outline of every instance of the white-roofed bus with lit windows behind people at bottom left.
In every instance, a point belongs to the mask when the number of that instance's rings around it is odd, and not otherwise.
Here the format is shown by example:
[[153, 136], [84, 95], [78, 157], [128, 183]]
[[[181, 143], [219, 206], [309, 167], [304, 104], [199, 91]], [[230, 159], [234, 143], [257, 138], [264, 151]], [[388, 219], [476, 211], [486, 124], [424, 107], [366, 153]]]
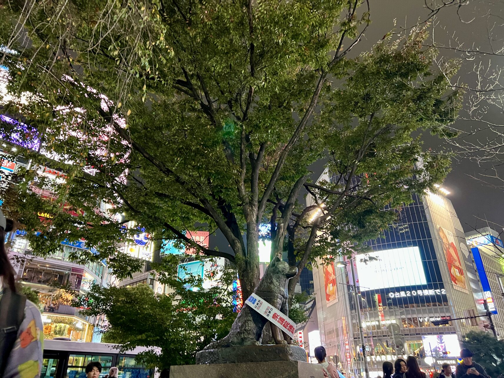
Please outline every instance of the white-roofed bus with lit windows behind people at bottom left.
[[[159, 348], [154, 347], [156, 350]], [[44, 340], [44, 360], [40, 378], [86, 378], [86, 365], [98, 361], [100, 378], [112, 366], [119, 369], [119, 378], [155, 378], [154, 370], [135, 360], [138, 353], [149, 350], [137, 347], [120, 353], [118, 344], [84, 343], [70, 340]]]

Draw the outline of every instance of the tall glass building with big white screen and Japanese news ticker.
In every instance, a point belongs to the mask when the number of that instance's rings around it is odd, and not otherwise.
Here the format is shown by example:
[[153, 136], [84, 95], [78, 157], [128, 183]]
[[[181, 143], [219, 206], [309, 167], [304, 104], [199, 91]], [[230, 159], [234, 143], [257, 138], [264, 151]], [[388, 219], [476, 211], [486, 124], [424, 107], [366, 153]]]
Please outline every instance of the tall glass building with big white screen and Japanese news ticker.
[[[449, 321], [475, 314], [473, 292], [481, 292], [452, 203], [433, 193], [413, 200], [381, 238], [368, 241], [370, 253], [344, 259], [344, 268], [313, 267], [321, 342], [347, 376], [364, 370], [358, 314], [371, 377], [401, 355], [415, 355], [424, 369], [432, 368], [425, 360], [431, 356], [436, 365], [455, 365], [458, 340], [474, 327]], [[448, 324], [434, 326], [435, 320]]]

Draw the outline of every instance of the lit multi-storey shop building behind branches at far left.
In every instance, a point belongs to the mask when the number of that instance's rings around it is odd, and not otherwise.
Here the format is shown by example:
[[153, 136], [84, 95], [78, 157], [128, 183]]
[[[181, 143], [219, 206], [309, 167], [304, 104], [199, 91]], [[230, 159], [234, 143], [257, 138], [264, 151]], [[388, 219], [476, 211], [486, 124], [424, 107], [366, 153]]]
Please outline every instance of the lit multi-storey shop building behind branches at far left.
[[[5, 117], [0, 118], [6, 121]], [[6, 147], [7, 145], [4, 146]], [[16, 147], [11, 148], [10, 152], [15, 153]], [[4, 152], [0, 151], [0, 156], [3, 154]], [[5, 185], [16, 184], [12, 181], [15, 177], [12, 173], [20, 167], [26, 168], [27, 164], [22, 156], [17, 156], [16, 161], [2, 159], [1, 182], [5, 182]], [[38, 177], [44, 177], [49, 181], [62, 180], [65, 176], [63, 172], [47, 167], [37, 167], [37, 173]], [[50, 188], [47, 185], [43, 187], [39, 185], [38, 177], [36, 176], [32, 182], [33, 191], [41, 197], [51, 198], [53, 193]], [[0, 192], [3, 195], [4, 192]], [[69, 209], [68, 213], [73, 214], [74, 211]], [[42, 220], [50, 221], [52, 218], [51, 214], [43, 212], [37, 215]], [[84, 294], [92, 284], [108, 285], [110, 276], [105, 263], [97, 261], [82, 265], [72, 261], [70, 257], [76, 251], [90, 251], [85, 240], [73, 242], [65, 240], [61, 243], [61, 249], [54, 251], [53, 254], [45, 258], [34, 256], [25, 235], [26, 232], [23, 230], [16, 230], [7, 235], [8, 254], [20, 283], [39, 292], [38, 306], [42, 311], [44, 339], [64, 337], [73, 341], [99, 341], [100, 333], [95, 331], [100, 328], [104, 319], [83, 316], [77, 308], [71, 306], [73, 297], [69, 292]]]

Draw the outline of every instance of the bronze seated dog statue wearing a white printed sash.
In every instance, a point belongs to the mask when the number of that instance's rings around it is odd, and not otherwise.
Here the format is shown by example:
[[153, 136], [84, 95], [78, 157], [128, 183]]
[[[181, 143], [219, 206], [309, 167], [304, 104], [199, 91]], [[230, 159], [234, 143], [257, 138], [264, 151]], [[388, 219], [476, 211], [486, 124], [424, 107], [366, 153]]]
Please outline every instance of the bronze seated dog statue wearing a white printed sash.
[[[287, 282], [296, 273], [296, 267], [291, 267], [276, 257], [272, 260], [268, 269], [266, 269], [266, 273], [255, 292], [288, 316]], [[246, 299], [244, 298], [244, 300]], [[207, 345], [205, 350], [241, 345], [261, 345], [263, 329], [266, 323], [268, 323], [266, 318], [243, 303], [241, 312], [234, 320], [229, 334], [223, 339]], [[287, 334], [272, 323], [270, 323], [270, 326], [276, 344], [291, 344], [292, 340]]]

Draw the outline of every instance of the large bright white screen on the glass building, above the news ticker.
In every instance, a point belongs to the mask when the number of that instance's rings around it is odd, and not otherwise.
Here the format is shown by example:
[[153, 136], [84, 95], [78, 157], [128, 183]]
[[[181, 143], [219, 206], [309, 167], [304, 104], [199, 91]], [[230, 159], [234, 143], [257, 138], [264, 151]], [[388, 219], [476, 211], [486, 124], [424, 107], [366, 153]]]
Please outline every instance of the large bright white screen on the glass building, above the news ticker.
[[355, 263], [361, 290], [427, 283], [417, 246], [371, 252], [357, 256]]

